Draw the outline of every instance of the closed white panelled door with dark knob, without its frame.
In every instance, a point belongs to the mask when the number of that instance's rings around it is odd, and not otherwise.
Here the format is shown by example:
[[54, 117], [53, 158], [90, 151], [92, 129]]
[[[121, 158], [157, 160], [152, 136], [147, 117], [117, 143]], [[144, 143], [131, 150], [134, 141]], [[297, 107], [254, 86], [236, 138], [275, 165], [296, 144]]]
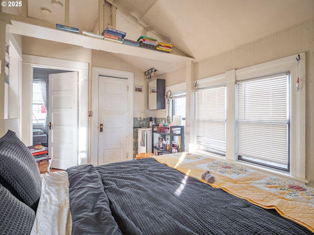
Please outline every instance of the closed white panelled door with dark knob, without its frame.
[[99, 76], [98, 164], [127, 160], [128, 80]]

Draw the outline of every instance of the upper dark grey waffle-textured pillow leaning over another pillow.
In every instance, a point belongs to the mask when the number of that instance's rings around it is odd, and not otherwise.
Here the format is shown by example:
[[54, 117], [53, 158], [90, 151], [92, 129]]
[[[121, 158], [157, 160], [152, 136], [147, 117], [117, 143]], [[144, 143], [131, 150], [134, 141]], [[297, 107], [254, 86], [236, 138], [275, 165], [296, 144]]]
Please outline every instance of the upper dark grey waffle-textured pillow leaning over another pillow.
[[36, 211], [41, 193], [41, 175], [35, 158], [11, 130], [0, 138], [0, 183]]

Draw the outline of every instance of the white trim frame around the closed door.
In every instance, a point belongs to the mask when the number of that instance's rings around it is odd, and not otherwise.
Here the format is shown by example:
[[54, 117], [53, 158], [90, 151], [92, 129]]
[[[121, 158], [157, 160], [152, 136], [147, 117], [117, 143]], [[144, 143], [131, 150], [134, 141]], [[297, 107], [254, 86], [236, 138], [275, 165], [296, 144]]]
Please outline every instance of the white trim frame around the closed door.
[[128, 160], [133, 159], [133, 72], [92, 67], [92, 111], [91, 164], [98, 165], [98, 95], [99, 76], [123, 77], [128, 79]]

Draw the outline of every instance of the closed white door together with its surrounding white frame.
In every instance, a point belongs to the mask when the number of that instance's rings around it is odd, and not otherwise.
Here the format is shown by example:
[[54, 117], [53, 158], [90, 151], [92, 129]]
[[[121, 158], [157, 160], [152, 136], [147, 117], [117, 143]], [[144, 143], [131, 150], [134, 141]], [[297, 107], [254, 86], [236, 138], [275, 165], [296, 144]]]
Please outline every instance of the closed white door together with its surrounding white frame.
[[[93, 118], [92, 118], [92, 123], [91, 123], [91, 129], [94, 130], [91, 132], [91, 164], [94, 165], [99, 165], [99, 164], [104, 164], [104, 163], [109, 163], [109, 162], [117, 162], [117, 161], [123, 161], [123, 160], [131, 160], [133, 159], [133, 79], [134, 79], [134, 74], [132, 72], [126, 72], [126, 71], [117, 71], [117, 70], [111, 70], [111, 69], [104, 69], [104, 68], [98, 68], [98, 67], [93, 67], [92, 68], [92, 110], [93, 110]], [[102, 135], [101, 131], [101, 125], [103, 123], [102, 117], [104, 115], [100, 114], [99, 111], [99, 97], [100, 97], [100, 88], [101, 86], [104, 87], [104, 82], [105, 81], [110, 81], [111, 85], [115, 83], [115, 91], [112, 90], [110, 91], [111, 93], [115, 93], [114, 96], [116, 101], [118, 102], [118, 99], [120, 99], [119, 95], [119, 87], [124, 87], [126, 85], [126, 100], [123, 101], [124, 104], [126, 105], [126, 109], [121, 111], [121, 113], [125, 114], [125, 117], [121, 116], [121, 120], [124, 119], [124, 126], [123, 126], [123, 132], [126, 135], [126, 140], [122, 140], [122, 136], [119, 136], [118, 133], [114, 133], [116, 139], [114, 145], [116, 146], [115, 149], [106, 149], [105, 147], [101, 147], [102, 145], [102, 138], [104, 140], [106, 139], [106, 136], [108, 137], [110, 133], [106, 133]], [[122, 83], [126, 83], [125, 85], [122, 85]], [[103, 85], [102, 85], [103, 84]], [[113, 94], [112, 94], [113, 95]], [[111, 96], [111, 95], [110, 95]], [[113, 96], [112, 96], [113, 97]], [[122, 101], [121, 101], [122, 102]], [[103, 104], [103, 106], [105, 103]], [[107, 107], [109, 107], [108, 105]], [[122, 106], [120, 106], [120, 110], [122, 110]], [[116, 107], [115, 107], [116, 108]], [[114, 108], [114, 109], [115, 109]], [[108, 116], [108, 120], [112, 118], [113, 116], [120, 115], [118, 110], [111, 110], [113, 112]], [[105, 114], [106, 116], [107, 114]], [[109, 118], [110, 117], [110, 118]], [[119, 119], [119, 118], [118, 118]], [[109, 121], [113, 123], [113, 121]], [[121, 122], [120, 122], [121, 123]], [[116, 131], [118, 130], [118, 126], [120, 128], [121, 124], [114, 123], [114, 125], [117, 126], [117, 128], [111, 128], [108, 129], [107, 131]], [[114, 130], [113, 130], [114, 129]], [[97, 130], [97, 131], [96, 131]], [[103, 129], [104, 131], [104, 129]], [[123, 138], [124, 139], [124, 138]], [[121, 141], [120, 141], [121, 140]], [[113, 141], [113, 140], [110, 140]], [[121, 143], [121, 144], [120, 144]], [[119, 145], [124, 145], [122, 148], [120, 148]], [[112, 145], [113, 146], [113, 145]], [[120, 149], [120, 150], [118, 150]], [[125, 149], [125, 150], [122, 150]], [[126, 151], [126, 152], [125, 152]], [[111, 155], [112, 157], [109, 158], [102, 158], [99, 156], [104, 156], [103, 153], [110, 153], [114, 154]], [[119, 152], [119, 153], [118, 153]], [[103, 155], [102, 155], [103, 154]]]

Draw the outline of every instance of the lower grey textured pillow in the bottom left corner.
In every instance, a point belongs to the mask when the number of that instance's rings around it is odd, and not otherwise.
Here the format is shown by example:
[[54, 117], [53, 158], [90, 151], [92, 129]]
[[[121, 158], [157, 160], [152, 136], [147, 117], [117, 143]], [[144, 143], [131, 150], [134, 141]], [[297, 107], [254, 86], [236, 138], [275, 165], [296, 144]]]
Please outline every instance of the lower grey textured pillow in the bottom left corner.
[[0, 233], [29, 234], [35, 212], [0, 185]]

